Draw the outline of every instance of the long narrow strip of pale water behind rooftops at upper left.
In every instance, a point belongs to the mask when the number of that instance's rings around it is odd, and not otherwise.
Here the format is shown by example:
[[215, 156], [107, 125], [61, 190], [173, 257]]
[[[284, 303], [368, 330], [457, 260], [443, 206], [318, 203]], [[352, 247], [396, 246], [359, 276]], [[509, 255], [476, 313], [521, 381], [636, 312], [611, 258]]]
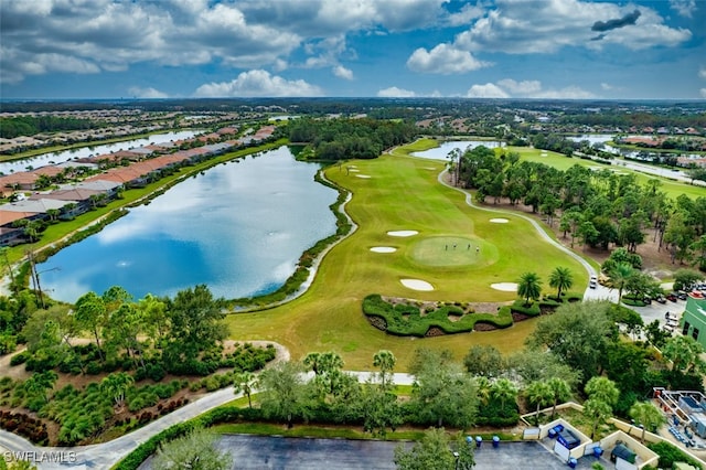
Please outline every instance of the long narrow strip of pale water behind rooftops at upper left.
[[46, 167], [47, 164], [62, 163], [68, 160], [78, 158], [86, 158], [90, 156], [99, 156], [103, 153], [110, 153], [118, 150], [127, 150], [136, 147], [149, 146], [150, 143], [164, 143], [172, 140], [183, 140], [194, 137], [196, 133], [201, 133], [200, 130], [180, 130], [174, 132], [161, 132], [153, 133], [148, 137], [139, 139], [124, 140], [121, 142], [96, 145], [92, 147], [79, 147], [69, 150], [62, 150], [58, 152], [42, 153], [40, 156], [24, 158], [21, 160], [12, 160], [0, 163], [0, 172], [3, 174], [10, 174], [17, 171], [26, 171], [26, 167], [32, 168]]

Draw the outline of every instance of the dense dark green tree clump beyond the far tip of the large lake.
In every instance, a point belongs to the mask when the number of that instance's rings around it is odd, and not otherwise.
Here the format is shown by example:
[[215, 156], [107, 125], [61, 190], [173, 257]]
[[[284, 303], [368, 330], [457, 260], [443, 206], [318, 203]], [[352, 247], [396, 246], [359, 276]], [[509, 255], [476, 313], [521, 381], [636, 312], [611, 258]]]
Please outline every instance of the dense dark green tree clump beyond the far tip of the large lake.
[[372, 159], [383, 150], [409, 142], [417, 127], [375, 119], [297, 119], [288, 125], [291, 142], [307, 142], [317, 160]]

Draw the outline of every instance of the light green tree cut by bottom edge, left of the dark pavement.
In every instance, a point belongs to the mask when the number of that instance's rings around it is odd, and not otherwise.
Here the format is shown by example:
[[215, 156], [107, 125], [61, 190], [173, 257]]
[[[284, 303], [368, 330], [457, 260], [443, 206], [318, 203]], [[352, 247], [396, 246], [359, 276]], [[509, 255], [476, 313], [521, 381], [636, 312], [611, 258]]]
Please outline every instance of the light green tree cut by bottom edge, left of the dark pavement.
[[154, 470], [229, 470], [233, 458], [229, 453], [222, 453], [216, 447], [216, 434], [197, 428], [186, 436], [179, 437], [162, 445], [154, 460]]

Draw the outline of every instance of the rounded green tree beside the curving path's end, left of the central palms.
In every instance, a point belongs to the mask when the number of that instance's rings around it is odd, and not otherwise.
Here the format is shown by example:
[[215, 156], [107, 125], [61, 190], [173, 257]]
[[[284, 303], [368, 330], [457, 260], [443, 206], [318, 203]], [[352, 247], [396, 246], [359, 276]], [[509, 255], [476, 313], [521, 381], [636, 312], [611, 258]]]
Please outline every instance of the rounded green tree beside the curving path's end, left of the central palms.
[[291, 428], [295, 418], [309, 415], [307, 385], [301, 375], [300, 364], [280, 362], [263, 371], [260, 408], [266, 417], [284, 419]]

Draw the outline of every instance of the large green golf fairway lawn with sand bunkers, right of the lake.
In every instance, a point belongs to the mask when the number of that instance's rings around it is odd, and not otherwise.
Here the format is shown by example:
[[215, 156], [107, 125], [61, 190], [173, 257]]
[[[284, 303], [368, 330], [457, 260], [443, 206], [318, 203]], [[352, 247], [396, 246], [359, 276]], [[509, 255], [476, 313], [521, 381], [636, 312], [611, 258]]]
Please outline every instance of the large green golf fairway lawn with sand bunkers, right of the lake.
[[[515, 293], [494, 290], [491, 284], [512, 282], [532, 270], [550, 292], [546, 282], [557, 266], [571, 269], [576, 286], [588, 281], [584, 268], [541, 241], [528, 222], [503, 214], [510, 223], [491, 223], [493, 214], [469, 207], [462, 193], [439, 184], [441, 161], [383, 156], [351, 161], [346, 167], [357, 171], [331, 167], [327, 177], [353, 192], [346, 209], [359, 229], [327, 255], [303, 296], [266, 311], [229, 316], [231, 338], [277, 341], [290, 349], [293, 359], [312, 351], [336, 351], [351, 370], [373, 368], [373, 354], [388, 349], [398, 359], [396, 370], [404, 371], [419, 346], [448, 348], [457, 360], [472, 344], [495, 344], [506, 353], [520, 350], [534, 321], [502, 331], [396, 338], [374, 329], [365, 319], [362, 301], [370, 293], [418, 300], [506, 301], [515, 299]], [[394, 237], [388, 231], [418, 234]], [[446, 249], [445, 241], [456, 241], [456, 253], [451, 246]], [[478, 255], [467, 248], [469, 243], [480, 244]], [[371, 252], [377, 246], [396, 252]], [[435, 290], [411, 290], [400, 279], [424, 280]]]

